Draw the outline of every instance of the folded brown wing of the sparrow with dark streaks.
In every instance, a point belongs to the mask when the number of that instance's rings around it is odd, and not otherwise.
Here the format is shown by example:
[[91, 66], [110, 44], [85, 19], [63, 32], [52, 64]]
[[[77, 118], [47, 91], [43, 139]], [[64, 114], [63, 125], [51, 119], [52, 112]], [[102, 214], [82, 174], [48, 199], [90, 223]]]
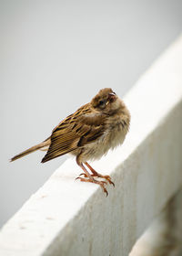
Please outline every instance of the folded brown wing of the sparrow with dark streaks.
[[[99, 114], [99, 113], [98, 113]], [[94, 142], [104, 133], [106, 116], [90, 112], [89, 105], [66, 117], [53, 130], [51, 144], [42, 163]]]

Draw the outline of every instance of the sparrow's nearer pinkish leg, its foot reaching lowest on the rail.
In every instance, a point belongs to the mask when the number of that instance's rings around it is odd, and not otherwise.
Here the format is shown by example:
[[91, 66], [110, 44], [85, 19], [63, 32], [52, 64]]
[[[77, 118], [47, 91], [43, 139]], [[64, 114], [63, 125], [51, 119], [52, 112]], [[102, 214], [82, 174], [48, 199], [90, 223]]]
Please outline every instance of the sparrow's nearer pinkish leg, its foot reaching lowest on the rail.
[[80, 181], [92, 182], [92, 183], [100, 185], [100, 187], [102, 187], [103, 191], [106, 193], [106, 197], [107, 197], [108, 192], [107, 192], [106, 187], [105, 187], [106, 186], [106, 181], [98, 181], [93, 176], [91, 176], [88, 173], [88, 171], [86, 170], [86, 167], [82, 163], [79, 163], [79, 161], [77, 161], [77, 157], [76, 157], [76, 163], [77, 163], [77, 165], [79, 165], [82, 168], [82, 170], [85, 172], [84, 175], [86, 176], [86, 177], [78, 176], [78, 177], [76, 177], [76, 179], [79, 179]]

